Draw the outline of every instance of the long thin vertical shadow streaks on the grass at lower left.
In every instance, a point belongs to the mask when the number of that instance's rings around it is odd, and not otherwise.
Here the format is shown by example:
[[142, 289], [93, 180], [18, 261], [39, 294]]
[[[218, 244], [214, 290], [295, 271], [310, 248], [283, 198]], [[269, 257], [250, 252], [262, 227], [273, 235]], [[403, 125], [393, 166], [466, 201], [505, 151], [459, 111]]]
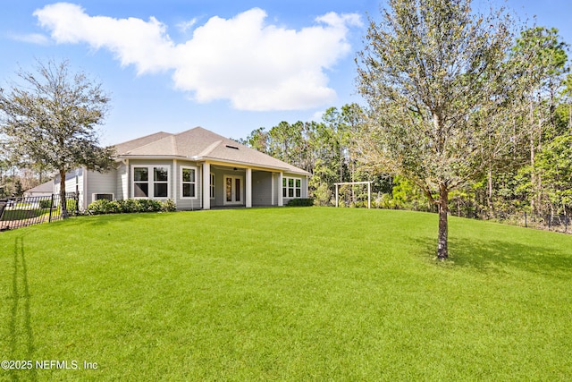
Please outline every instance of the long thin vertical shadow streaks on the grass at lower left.
[[[24, 237], [18, 236], [14, 242], [12, 278], [12, 307], [10, 315], [10, 360], [33, 360], [34, 332], [30, 319], [30, 293], [28, 267], [24, 252]], [[36, 369], [10, 369], [12, 380], [19, 380], [21, 374], [29, 373], [31, 380], [37, 380]]]

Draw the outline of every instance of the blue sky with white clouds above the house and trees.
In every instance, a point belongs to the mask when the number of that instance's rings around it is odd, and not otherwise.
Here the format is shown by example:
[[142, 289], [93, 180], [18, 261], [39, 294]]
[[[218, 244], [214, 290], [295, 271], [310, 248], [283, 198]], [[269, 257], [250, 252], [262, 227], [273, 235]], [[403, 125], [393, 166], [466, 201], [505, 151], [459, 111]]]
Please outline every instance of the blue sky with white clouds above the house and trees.
[[[484, 4], [475, 0], [475, 5]], [[0, 84], [35, 60], [69, 59], [103, 84], [112, 144], [195, 126], [231, 138], [319, 120], [360, 102], [354, 58], [378, 0], [4, 2]], [[493, 0], [572, 43], [569, 0]]]

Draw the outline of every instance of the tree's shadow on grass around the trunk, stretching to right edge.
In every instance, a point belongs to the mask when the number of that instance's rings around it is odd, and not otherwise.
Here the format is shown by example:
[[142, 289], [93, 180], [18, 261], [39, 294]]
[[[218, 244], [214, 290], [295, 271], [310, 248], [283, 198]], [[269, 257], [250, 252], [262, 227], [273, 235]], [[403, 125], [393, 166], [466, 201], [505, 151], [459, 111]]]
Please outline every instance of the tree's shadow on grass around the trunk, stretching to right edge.
[[[437, 242], [426, 238], [419, 241], [424, 255], [436, 257]], [[471, 267], [485, 273], [502, 273], [509, 268], [545, 276], [569, 277], [572, 272], [572, 250], [564, 252], [540, 245], [525, 245], [501, 240], [475, 241], [467, 238], [449, 239], [451, 267]]]

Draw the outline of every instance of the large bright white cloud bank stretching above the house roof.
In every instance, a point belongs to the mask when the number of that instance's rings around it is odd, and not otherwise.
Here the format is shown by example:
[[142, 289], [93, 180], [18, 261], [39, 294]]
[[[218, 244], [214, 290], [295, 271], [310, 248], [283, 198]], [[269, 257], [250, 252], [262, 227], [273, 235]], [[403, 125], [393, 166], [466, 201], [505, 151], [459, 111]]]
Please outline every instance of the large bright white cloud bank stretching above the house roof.
[[[46, 5], [34, 13], [55, 42], [87, 43], [114, 52], [139, 74], [173, 71], [176, 89], [198, 102], [228, 99], [241, 110], [294, 110], [323, 106], [336, 98], [324, 69], [349, 54], [349, 27], [357, 14], [327, 13], [315, 25], [290, 30], [265, 23], [254, 8], [231, 19], [212, 17], [174, 44], [166, 26], [151, 17], [89, 16], [75, 4]], [[180, 24], [189, 29], [196, 19]]]

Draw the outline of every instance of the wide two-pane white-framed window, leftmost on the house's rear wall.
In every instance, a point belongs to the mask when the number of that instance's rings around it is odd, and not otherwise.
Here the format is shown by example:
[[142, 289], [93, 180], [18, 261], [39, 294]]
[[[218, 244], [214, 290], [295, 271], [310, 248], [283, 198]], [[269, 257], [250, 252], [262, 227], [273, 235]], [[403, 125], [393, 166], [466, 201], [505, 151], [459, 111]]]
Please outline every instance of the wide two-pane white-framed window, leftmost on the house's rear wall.
[[133, 198], [169, 197], [169, 167], [133, 166]]

